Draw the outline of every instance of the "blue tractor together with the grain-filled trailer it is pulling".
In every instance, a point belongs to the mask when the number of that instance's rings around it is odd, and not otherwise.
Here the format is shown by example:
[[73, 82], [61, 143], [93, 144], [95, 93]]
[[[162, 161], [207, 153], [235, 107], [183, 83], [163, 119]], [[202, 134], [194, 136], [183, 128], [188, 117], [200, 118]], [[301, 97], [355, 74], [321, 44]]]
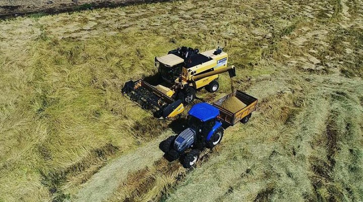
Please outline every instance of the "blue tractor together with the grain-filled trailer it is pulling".
[[[227, 105], [231, 100], [233, 109]], [[247, 123], [256, 110], [257, 102], [257, 98], [236, 90], [212, 105], [196, 104], [188, 112], [187, 129], [160, 142], [159, 147], [171, 160], [182, 157], [183, 166], [191, 168], [198, 161], [201, 150], [205, 147], [212, 149], [222, 140], [222, 122], [225, 126]]]

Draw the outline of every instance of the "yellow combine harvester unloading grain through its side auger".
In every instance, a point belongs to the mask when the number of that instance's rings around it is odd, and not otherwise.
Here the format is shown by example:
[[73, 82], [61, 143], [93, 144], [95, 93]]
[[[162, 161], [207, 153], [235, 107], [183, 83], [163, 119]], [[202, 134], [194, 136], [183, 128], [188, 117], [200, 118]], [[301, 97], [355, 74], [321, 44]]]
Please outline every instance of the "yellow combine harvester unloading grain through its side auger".
[[217, 91], [219, 74], [235, 76], [234, 66], [228, 67], [227, 62], [228, 55], [222, 48], [199, 53], [198, 49], [183, 46], [155, 57], [159, 84], [128, 81], [122, 92], [143, 109], [153, 110], [155, 117], [174, 117], [184, 111], [184, 105], [193, 102], [196, 90], [205, 87], [211, 93]]

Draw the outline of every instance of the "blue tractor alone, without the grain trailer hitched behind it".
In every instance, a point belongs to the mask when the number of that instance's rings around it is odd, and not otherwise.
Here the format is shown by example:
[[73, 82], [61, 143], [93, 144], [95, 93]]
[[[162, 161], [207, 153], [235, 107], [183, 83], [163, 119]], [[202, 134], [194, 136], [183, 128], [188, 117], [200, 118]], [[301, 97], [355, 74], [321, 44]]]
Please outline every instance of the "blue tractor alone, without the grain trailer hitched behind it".
[[159, 148], [172, 160], [183, 157], [183, 166], [191, 168], [198, 161], [201, 150], [212, 149], [222, 140], [224, 129], [218, 115], [218, 108], [212, 105], [194, 105], [188, 112], [187, 129], [160, 142]]

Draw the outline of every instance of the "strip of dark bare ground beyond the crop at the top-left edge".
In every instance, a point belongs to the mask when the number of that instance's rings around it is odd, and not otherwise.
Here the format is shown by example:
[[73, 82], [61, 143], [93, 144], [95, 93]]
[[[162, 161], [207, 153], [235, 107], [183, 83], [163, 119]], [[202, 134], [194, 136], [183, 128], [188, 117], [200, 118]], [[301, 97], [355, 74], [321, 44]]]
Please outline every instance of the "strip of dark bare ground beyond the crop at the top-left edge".
[[34, 13], [56, 14], [165, 1], [168, 0], [0, 0], [0, 19]]

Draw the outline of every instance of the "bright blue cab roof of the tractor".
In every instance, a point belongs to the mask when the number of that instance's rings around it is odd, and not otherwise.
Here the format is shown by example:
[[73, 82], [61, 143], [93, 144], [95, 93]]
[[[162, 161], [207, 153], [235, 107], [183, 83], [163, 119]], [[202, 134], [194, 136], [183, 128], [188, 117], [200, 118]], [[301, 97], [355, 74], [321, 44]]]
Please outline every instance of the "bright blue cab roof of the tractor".
[[194, 105], [188, 114], [204, 122], [216, 118], [219, 115], [219, 110], [208, 103], [199, 103]]

